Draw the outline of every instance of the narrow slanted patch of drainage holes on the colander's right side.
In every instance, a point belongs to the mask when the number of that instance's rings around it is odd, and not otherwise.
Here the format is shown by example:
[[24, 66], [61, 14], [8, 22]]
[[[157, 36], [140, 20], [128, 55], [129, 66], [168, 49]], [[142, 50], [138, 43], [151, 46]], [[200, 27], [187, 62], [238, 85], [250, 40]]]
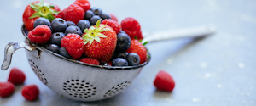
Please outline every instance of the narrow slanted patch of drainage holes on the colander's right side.
[[121, 91], [123, 91], [127, 86], [131, 85], [131, 81], [125, 81], [122, 82], [116, 86], [113, 86], [111, 89], [108, 90], [108, 92], [106, 92], [103, 97], [104, 98], [108, 98], [111, 97]]

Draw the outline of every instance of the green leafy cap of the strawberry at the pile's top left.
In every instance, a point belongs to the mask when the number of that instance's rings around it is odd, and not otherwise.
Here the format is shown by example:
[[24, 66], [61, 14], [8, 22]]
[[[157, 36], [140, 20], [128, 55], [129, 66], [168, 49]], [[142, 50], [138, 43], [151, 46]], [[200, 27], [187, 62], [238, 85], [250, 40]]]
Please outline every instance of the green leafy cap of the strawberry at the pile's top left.
[[49, 2], [44, 2], [44, 0], [40, 0], [40, 3], [34, 3], [30, 4], [30, 7], [36, 11], [34, 14], [32, 14], [29, 19], [33, 19], [36, 17], [44, 17], [46, 19], [49, 19], [49, 21], [52, 21], [55, 19], [55, 16], [53, 14], [59, 14], [60, 12], [56, 11], [54, 5], [50, 5]]

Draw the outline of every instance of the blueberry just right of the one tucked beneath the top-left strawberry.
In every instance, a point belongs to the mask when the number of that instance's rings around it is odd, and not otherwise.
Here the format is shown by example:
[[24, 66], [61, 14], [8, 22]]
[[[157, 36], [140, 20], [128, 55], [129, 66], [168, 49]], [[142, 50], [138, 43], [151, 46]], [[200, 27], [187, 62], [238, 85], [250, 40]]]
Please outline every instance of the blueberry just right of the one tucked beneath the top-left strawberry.
[[61, 18], [55, 18], [51, 21], [51, 28], [54, 32], [64, 32], [67, 28], [67, 23]]

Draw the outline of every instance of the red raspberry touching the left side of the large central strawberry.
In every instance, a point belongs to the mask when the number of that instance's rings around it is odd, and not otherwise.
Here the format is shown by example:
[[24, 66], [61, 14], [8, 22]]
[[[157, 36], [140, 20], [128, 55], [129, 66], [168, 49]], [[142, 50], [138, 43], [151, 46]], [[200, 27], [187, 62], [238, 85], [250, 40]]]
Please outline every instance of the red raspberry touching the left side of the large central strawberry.
[[77, 34], [69, 33], [64, 36], [61, 39], [61, 47], [65, 47], [73, 59], [79, 59], [84, 53], [83, 39]]

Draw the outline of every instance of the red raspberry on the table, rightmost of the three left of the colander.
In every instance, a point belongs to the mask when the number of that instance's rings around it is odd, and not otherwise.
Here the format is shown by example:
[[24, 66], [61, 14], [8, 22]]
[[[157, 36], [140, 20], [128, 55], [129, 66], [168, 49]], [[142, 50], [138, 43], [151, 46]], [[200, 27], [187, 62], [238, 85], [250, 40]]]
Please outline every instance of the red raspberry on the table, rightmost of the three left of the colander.
[[23, 86], [21, 93], [26, 100], [34, 101], [38, 98], [39, 89], [36, 85]]

